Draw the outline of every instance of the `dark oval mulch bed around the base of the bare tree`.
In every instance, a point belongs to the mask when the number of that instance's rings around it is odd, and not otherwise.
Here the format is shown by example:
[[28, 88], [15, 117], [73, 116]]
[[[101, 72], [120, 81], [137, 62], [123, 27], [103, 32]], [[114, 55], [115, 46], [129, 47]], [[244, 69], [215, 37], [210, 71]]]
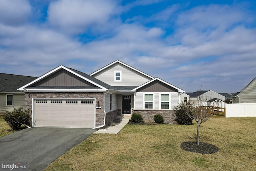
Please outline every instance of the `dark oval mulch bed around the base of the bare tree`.
[[209, 143], [200, 142], [199, 145], [197, 145], [196, 142], [191, 142], [191, 141], [180, 143], [180, 148], [182, 148], [185, 151], [190, 151], [193, 153], [200, 153], [200, 154], [214, 154], [220, 150], [215, 145], [212, 145]]

